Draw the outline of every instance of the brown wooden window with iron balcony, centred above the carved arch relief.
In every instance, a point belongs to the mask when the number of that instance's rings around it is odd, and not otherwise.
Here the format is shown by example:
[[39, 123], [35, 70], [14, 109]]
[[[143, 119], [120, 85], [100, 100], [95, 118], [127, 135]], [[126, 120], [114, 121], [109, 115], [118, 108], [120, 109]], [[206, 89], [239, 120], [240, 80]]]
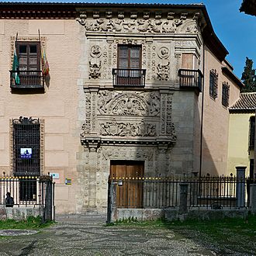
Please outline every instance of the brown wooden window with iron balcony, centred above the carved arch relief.
[[144, 87], [146, 70], [141, 69], [141, 46], [119, 45], [117, 68], [113, 68], [114, 86]]

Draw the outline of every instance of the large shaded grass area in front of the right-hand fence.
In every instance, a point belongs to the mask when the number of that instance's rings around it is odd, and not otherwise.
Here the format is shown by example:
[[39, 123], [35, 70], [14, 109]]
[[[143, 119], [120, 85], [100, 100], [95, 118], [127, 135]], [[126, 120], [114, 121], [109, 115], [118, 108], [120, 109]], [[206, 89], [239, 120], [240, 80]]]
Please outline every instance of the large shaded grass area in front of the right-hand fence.
[[185, 220], [185, 221], [132, 221], [121, 220], [115, 225], [168, 229], [175, 237], [185, 237], [215, 251], [218, 254], [248, 254], [256, 251], [256, 216], [249, 215], [246, 220], [226, 218], [223, 220]]

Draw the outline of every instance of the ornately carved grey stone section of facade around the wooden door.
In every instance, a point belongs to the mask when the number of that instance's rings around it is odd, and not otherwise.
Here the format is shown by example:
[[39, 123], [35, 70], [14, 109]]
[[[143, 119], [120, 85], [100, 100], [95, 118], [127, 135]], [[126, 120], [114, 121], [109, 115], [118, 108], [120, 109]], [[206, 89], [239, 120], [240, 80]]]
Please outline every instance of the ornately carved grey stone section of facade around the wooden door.
[[[111, 161], [144, 161], [144, 175], [151, 176], [189, 174], [199, 166], [199, 149], [194, 150], [199, 95], [181, 90], [178, 78], [184, 65], [202, 69], [199, 16], [187, 10], [81, 10], [85, 120], [78, 176], [84, 209], [106, 207]], [[119, 45], [141, 47], [143, 88], [113, 87]]]

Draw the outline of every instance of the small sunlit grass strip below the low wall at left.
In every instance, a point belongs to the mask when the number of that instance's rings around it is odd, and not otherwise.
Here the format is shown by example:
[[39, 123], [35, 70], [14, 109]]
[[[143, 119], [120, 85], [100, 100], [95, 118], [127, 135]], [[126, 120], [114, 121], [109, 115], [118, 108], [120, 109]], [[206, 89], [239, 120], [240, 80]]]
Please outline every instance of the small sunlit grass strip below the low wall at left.
[[49, 227], [54, 221], [47, 221], [42, 223], [40, 216], [33, 217], [29, 216], [26, 220], [0, 220], [1, 230], [29, 230], [29, 229], [40, 229], [43, 227]]

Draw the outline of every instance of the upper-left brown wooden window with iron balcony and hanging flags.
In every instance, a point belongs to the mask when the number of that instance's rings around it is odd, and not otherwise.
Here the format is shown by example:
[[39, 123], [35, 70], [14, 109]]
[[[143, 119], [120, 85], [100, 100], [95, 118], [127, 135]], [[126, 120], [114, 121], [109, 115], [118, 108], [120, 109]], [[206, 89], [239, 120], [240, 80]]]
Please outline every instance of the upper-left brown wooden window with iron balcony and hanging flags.
[[40, 42], [16, 42], [11, 88], [43, 88]]

